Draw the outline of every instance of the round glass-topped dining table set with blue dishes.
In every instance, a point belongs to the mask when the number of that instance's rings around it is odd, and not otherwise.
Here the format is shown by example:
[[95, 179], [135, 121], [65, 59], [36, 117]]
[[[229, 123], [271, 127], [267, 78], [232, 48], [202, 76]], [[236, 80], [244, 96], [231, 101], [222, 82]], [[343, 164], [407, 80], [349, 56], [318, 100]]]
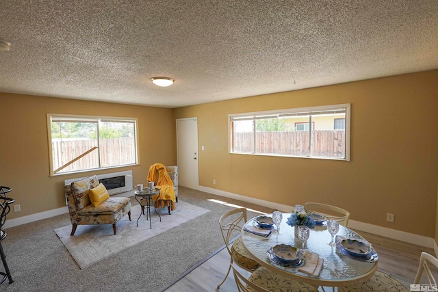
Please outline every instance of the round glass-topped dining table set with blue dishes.
[[[268, 250], [275, 245], [283, 243], [292, 245], [297, 249], [302, 247], [300, 239], [294, 235], [295, 227], [286, 223], [290, 215], [290, 213], [283, 213], [280, 233], [272, 231], [272, 234], [266, 238], [249, 233], [244, 230], [245, 228], [242, 228], [244, 248], [259, 265], [291, 280], [298, 280], [315, 287], [345, 287], [348, 284], [364, 282], [374, 274], [378, 260], [374, 248], [368, 256], [363, 257], [352, 256], [342, 250], [339, 245], [342, 239], [356, 239], [357, 241], [367, 242], [361, 235], [345, 226], [339, 226], [336, 246], [328, 244], [331, 241], [331, 235], [326, 226], [315, 225], [315, 228], [310, 229], [310, 236], [305, 245], [305, 250], [318, 254], [320, 258], [324, 259], [319, 276], [310, 276], [301, 272], [298, 267], [285, 267], [271, 261], [268, 257]], [[246, 222], [245, 226], [257, 226], [255, 219]]]

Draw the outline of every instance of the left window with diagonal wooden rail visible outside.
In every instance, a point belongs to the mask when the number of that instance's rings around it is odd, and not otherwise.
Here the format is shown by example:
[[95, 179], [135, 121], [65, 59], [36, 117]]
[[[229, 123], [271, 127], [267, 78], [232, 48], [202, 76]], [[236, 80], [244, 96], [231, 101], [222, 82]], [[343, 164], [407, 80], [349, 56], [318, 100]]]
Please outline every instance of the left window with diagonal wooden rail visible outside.
[[47, 114], [50, 174], [138, 163], [137, 120]]

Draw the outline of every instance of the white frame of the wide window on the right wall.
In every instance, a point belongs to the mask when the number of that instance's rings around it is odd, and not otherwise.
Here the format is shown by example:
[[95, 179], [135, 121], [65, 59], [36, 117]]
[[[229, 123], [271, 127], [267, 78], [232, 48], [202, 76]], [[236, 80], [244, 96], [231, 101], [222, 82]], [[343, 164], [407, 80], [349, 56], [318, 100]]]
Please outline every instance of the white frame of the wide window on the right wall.
[[[256, 153], [256, 152], [233, 152], [233, 119], [234, 118], [244, 118], [254, 116], [257, 119], [257, 116], [274, 116], [274, 115], [285, 115], [285, 114], [302, 114], [302, 113], [317, 113], [320, 111], [331, 111], [336, 109], [345, 109], [345, 157], [320, 157], [320, 156], [300, 156], [300, 155], [281, 155], [274, 153]], [[309, 122], [313, 122], [311, 118], [309, 118]], [[228, 152], [229, 154], [236, 155], [262, 155], [262, 156], [274, 156], [274, 157], [292, 157], [292, 158], [310, 158], [310, 159], [329, 159], [329, 160], [339, 160], [339, 161], [350, 161], [350, 122], [351, 122], [351, 104], [343, 103], [339, 105], [322, 105], [317, 107], [300, 107], [300, 108], [292, 108], [292, 109], [278, 109], [278, 110], [270, 110], [270, 111], [253, 111], [246, 112], [240, 114], [229, 114], [228, 115]], [[256, 131], [253, 129], [253, 132]], [[255, 142], [254, 142], [255, 143]], [[311, 153], [311, 152], [310, 152]]]

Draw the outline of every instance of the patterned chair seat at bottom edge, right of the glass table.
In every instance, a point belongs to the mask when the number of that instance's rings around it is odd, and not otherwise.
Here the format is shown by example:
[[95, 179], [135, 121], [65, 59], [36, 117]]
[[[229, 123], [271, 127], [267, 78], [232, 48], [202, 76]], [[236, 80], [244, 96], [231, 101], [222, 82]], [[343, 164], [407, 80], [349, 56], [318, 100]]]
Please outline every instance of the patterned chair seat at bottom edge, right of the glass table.
[[368, 292], [368, 291], [385, 291], [385, 292], [409, 292], [404, 285], [395, 278], [385, 274], [383, 271], [376, 271], [374, 275], [365, 282], [349, 284], [342, 287], [339, 291], [343, 292]]

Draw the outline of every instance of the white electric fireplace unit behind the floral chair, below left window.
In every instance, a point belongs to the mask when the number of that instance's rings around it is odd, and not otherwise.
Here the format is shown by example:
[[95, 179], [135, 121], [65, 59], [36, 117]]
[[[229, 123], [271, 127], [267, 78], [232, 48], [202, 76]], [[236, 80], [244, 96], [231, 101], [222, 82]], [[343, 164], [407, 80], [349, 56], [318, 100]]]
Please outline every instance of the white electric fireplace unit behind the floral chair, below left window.
[[[73, 181], [80, 181], [85, 177], [68, 179], [64, 181], [64, 185], [70, 185], [70, 183], [73, 183]], [[127, 170], [125, 172], [114, 172], [111, 174], [98, 174], [97, 178], [99, 178], [99, 183], [103, 183], [103, 185], [105, 185], [110, 196], [125, 193], [126, 191], [132, 191], [133, 189], [132, 170]]]

